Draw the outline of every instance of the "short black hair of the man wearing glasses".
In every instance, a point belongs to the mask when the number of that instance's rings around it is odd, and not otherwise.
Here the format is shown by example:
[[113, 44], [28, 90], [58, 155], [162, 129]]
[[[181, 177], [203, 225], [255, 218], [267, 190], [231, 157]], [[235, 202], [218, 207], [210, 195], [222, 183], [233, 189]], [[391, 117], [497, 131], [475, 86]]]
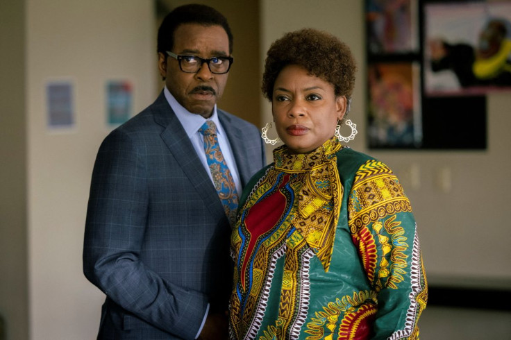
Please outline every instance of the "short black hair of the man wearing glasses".
[[203, 26], [221, 26], [229, 38], [229, 54], [233, 53], [233, 33], [226, 17], [210, 6], [192, 3], [174, 8], [163, 19], [158, 29], [158, 52], [172, 51], [174, 32], [181, 24], [199, 24]]

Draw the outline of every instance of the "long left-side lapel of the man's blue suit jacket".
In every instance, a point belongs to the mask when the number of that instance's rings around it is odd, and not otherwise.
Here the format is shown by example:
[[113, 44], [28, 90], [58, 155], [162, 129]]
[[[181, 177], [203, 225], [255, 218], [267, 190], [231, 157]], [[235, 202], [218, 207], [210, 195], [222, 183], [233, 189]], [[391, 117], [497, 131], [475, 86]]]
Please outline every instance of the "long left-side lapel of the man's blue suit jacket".
[[151, 110], [154, 112], [156, 123], [165, 127], [161, 134], [163, 142], [167, 144], [169, 151], [174, 155], [181, 169], [190, 179], [196, 192], [202, 197], [204, 203], [214, 216], [217, 216], [217, 218], [225, 216], [224, 207], [222, 207], [218, 198], [217, 190], [212, 184], [201, 160], [199, 160], [185, 129], [183, 129], [179, 119], [170, 108], [167, 99], [165, 99], [163, 92], [153, 103]]

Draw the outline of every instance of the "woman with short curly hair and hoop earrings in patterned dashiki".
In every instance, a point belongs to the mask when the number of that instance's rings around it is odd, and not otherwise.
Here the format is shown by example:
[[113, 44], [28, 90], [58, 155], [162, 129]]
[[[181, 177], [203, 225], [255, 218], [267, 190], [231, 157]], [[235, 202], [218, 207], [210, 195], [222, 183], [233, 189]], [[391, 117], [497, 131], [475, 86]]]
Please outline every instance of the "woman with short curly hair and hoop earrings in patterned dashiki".
[[285, 145], [240, 198], [231, 339], [419, 339], [427, 285], [410, 202], [336, 132], [354, 81], [329, 33], [287, 33], [267, 53], [262, 90]]

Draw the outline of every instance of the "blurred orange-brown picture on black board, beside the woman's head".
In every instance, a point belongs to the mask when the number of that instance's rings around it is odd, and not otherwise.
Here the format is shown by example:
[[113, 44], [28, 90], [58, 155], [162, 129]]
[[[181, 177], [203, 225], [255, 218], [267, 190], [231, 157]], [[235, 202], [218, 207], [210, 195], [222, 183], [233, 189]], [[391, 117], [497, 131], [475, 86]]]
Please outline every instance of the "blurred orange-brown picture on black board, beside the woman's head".
[[368, 68], [369, 147], [421, 145], [420, 66], [417, 62], [380, 62]]

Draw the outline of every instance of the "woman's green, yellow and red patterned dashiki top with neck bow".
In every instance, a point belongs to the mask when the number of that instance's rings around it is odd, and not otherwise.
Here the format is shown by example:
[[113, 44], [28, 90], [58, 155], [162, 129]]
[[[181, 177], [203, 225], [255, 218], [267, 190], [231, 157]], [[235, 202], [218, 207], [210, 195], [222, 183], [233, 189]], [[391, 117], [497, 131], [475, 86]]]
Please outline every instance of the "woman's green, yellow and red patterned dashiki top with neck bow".
[[231, 339], [419, 339], [424, 275], [410, 202], [337, 139], [274, 151], [240, 200]]

